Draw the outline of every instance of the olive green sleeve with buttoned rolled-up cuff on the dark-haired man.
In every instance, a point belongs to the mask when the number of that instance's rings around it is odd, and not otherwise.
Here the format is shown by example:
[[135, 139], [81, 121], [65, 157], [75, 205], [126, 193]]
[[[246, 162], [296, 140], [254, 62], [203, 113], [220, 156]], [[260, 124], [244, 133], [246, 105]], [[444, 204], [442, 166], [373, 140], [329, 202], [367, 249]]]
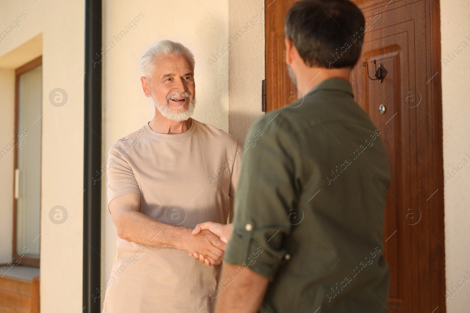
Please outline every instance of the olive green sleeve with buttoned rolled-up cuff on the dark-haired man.
[[[225, 261], [250, 267], [270, 280], [286, 258], [290, 210], [297, 202], [292, 132], [265, 115], [247, 135], [237, 194], [234, 232]], [[280, 117], [278, 117], [281, 120]], [[255, 136], [253, 136], [255, 135]]]

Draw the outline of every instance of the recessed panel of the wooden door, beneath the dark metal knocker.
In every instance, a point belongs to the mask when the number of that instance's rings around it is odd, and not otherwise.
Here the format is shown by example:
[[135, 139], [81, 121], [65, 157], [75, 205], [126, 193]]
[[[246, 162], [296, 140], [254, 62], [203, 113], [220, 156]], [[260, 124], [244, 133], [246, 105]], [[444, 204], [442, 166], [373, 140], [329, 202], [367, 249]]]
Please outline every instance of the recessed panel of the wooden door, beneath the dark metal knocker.
[[[402, 218], [399, 216], [403, 199], [400, 197], [403, 193], [400, 192], [402, 184], [399, 183], [399, 177], [397, 174], [401, 172], [402, 163], [402, 140], [404, 134], [401, 131], [401, 110], [400, 102], [400, 84], [401, 81], [400, 68], [402, 61], [400, 55], [403, 50], [399, 45], [387, 46], [384, 48], [375, 49], [364, 53], [362, 61], [368, 62], [369, 71], [375, 69], [374, 60], [377, 64], [380, 64], [387, 70], [389, 77], [384, 78], [384, 83], [379, 83], [377, 80], [370, 80], [367, 76], [367, 68], [362, 71], [361, 83], [362, 84], [362, 95], [363, 102], [362, 108], [366, 111], [372, 122], [382, 132], [382, 140], [387, 149], [388, 159], [390, 163], [390, 174], [391, 184], [388, 189], [390, 193], [387, 193], [386, 198], [386, 211], [385, 211], [385, 229], [384, 236], [385, 240], [394, 232], [394, 236], [390, 237], [386, 242], [386, 249], [384, 252], [385, 259], [388, 262], [390, 268], [390, 292], [389, 292], [389, 306], [390, 307], [402, 307], [403, 306], [403, 281], [400, 280], [402, 275], [407, 275], [407, 268], [403, 267], [402, 260], [403, 251], [401, 245], [399, 245], [399, 237], [402, 236]], [[361, 62], [361, 64], [363, 63]], [[371, 74], [369, 74], [371, 75]], [[391, 79], [394, 77], [397, 83]], [[386, 81], [391, 80], [391, 82]], [[406, 79], [406, 78], [405, 78]], [[385, 106], [385, 113], [380, 114], [378, 110], [379, 105]], [[393, 253], [391, 253], [393, 252]], [[399, 275], [400, 273], [400, 275]]]

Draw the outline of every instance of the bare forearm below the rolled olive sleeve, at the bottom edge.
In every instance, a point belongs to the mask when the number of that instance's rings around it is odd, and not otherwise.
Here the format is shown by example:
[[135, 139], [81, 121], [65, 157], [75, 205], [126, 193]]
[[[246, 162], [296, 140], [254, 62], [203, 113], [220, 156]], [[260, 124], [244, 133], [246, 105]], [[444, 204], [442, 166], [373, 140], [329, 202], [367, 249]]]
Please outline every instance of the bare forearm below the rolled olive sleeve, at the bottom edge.
[[240, 265], [224, 262], [220, 285], [225, 289], [217, 297], [216, 313], [258, 312], [269, 280], [249, 267], [245, 268], [242, 274], [234, 276], [231, 271], [235, 272], [239, 267]]

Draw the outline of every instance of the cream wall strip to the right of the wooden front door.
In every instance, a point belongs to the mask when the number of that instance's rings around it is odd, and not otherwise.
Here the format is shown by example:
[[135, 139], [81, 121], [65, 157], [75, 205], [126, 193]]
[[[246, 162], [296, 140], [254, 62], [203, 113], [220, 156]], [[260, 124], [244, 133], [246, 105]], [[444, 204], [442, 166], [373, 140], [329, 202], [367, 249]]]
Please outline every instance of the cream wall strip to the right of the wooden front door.
[[470, 280], [470, 6], [441, 0], [440, 8], [446, 287], [454, 289], [447, 312], [464, 313], [470, 310], [470, 282], [462, 282]]

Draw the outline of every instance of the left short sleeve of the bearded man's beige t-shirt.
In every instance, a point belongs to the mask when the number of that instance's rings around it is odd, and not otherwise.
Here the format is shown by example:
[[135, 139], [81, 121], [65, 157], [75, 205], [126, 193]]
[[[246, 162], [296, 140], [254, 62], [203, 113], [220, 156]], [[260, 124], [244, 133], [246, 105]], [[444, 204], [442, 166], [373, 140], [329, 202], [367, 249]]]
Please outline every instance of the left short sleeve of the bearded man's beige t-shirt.
[[140, 194], [133, 170], [129, 163], [119, 153], [116, 145], [112, 146], [108, 153], [108, 206], [112, 199], [128, 192]]

